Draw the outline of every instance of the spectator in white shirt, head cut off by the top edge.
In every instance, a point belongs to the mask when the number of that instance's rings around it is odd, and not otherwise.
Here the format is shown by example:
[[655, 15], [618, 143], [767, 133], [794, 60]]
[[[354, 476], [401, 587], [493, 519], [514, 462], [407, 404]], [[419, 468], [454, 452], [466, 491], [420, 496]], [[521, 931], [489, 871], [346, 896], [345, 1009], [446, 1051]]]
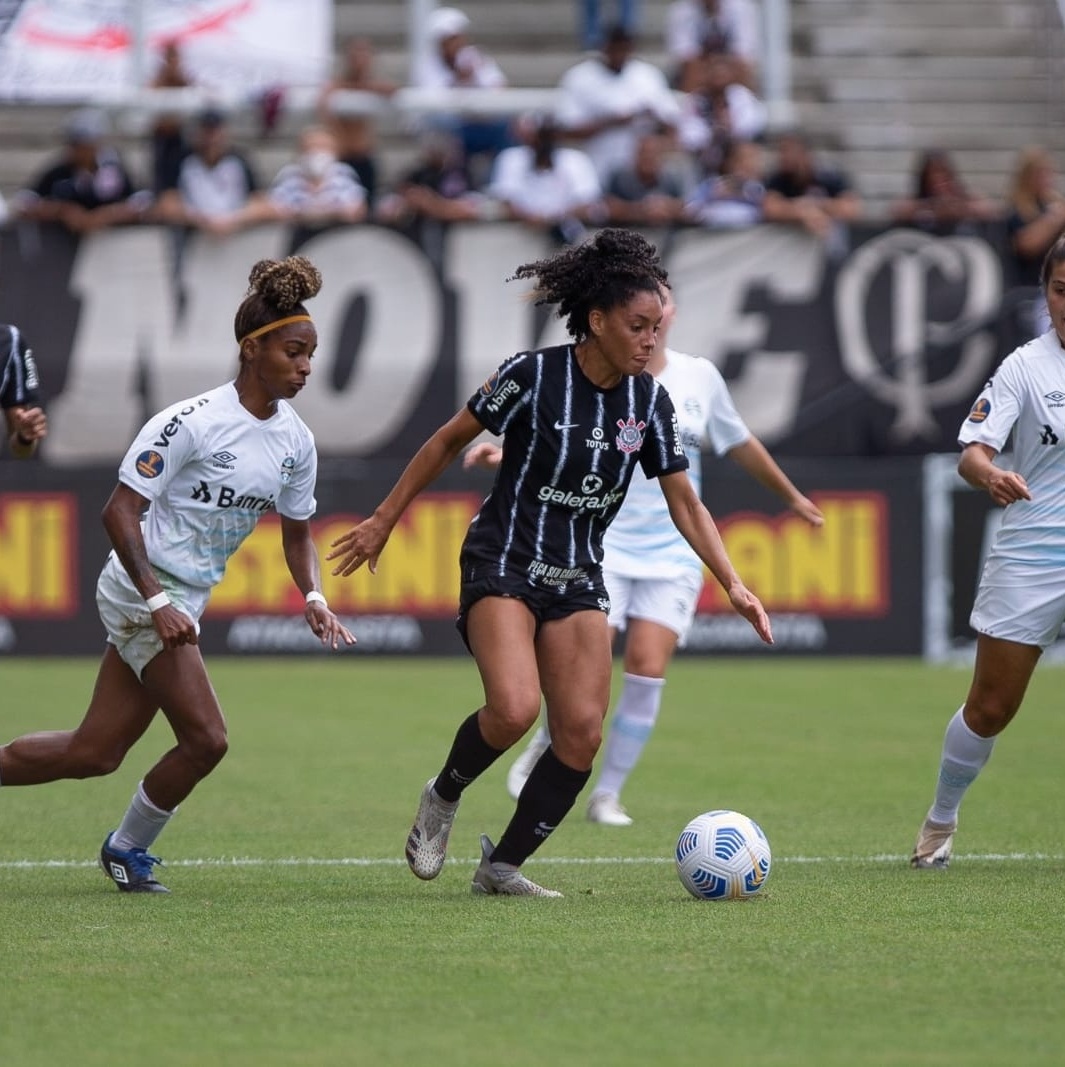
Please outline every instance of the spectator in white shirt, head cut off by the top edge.
[[699, 80], [699, 60], [731, 55], [736, 78], [748, 89], [758, 84], [762, 35], [752, 0], [675, 0], [666, 12], [666, 52], [672, 83], [689, 92]]

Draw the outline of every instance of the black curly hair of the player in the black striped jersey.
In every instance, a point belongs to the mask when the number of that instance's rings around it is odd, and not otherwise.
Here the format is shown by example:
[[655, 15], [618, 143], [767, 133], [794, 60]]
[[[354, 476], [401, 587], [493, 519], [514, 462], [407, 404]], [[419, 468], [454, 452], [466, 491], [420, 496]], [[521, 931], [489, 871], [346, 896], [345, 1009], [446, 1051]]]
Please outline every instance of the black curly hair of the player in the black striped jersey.
[[657, 292], [669, 284], [658, 253], [631, 229], [601, 229], [590, 240], [550, 259], [523, 264], [507, 278], [535, 278], [537, 304], [557, 304], [557, 315], [578, 344], [591, 332], [593, 308], [608, 312], [637, 292]]

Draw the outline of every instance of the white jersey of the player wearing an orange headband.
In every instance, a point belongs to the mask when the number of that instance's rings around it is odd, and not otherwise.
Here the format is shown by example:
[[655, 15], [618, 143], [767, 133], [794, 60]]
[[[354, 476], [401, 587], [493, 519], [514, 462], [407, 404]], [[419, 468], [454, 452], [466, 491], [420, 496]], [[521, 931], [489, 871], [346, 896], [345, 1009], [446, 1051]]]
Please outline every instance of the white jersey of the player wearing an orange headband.
[[143, 531], [152, 564], [209, 589], [263, 515], [315, 513], [317, 473], [314, 435], [295, 410], [279, 400], [270, 418], [256, 418], [228, 382], [149, 419], [118, 480], [150, 501]]

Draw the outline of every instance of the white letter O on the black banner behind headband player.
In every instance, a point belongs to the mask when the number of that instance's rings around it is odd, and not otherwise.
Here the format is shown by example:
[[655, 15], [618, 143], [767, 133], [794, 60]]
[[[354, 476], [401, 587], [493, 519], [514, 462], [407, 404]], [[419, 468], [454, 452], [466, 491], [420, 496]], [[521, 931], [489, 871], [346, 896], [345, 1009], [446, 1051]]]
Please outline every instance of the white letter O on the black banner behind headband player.
[[[300, 394], [300, 415], [314, 428], [319, 448], [371, 452], [407, 423], [436, 366], [440, 283], [414, 244], [383, 227], [327, 230], [299, 252], [323, 278], [321, 294], [307, 305], [318, 328], [318, 354]], [[331, 368], [355, 297], [366, 299], [366, 327], [351, 378], [338, 391]], [[416, 443], [422, 436], [418, 431]]]

